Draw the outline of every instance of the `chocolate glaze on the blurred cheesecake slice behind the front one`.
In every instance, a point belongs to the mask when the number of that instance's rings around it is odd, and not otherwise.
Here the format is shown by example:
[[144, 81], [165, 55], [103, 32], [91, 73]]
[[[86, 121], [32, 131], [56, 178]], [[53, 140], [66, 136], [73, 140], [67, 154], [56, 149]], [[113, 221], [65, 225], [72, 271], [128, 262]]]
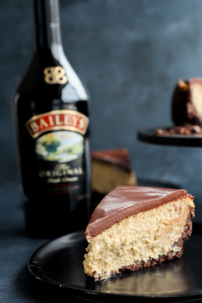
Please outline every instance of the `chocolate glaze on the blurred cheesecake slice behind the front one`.
[[131, 163], [126, 148], [92, 151], [92, 160], [111, 163], [131, 171]]

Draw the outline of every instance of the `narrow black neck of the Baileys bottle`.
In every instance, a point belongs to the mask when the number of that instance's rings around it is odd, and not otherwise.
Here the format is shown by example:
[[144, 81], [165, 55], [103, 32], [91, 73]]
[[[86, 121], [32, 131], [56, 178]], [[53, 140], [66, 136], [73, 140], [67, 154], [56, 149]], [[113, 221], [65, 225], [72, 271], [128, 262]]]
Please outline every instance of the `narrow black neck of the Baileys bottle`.
[[59, 0], [32, 0], [35, 52], [62, 49]]

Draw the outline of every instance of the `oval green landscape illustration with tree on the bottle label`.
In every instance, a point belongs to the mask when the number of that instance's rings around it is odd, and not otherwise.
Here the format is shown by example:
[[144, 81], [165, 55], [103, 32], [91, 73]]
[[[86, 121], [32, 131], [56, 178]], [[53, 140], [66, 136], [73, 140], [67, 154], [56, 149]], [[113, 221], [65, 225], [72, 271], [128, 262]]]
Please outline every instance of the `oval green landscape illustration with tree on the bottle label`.
[[36, 153], [46, 161], [69, 162], [84, 152], [84, 137], [71, 131], [47, 133], [36, 140]]

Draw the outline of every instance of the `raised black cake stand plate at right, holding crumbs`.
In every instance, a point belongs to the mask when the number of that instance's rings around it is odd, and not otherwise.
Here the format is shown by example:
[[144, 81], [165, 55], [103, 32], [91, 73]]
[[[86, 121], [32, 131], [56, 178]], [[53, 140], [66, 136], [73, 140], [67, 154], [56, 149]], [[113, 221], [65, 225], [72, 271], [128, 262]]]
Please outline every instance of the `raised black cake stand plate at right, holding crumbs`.
[[152, 129], [139, 130], [137, 132], [137, 138], [140, 141], [153, 144], [184, 146], [184, 147], [202, 147], [201, 135], [154, 135], [156, 129], [167, 129], [170, 127], [156, 127]]

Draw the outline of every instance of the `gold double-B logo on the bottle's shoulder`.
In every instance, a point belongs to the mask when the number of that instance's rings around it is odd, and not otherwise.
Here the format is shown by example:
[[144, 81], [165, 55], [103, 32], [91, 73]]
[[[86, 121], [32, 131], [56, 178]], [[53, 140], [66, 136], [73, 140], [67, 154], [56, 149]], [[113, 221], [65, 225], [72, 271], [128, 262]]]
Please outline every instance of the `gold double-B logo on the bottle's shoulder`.
[[62, 66], [46, 67], [43, 73], [45, 75], [44, 80], [48, 84], [65, 84], [67, 82], [65, 69]]

